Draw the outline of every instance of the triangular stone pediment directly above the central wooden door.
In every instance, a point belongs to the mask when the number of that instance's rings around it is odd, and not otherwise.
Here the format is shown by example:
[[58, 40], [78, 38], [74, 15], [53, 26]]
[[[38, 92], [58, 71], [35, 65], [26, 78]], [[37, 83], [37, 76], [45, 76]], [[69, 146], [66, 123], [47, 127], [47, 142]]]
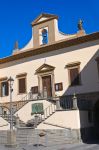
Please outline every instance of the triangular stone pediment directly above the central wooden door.
[[53, 66], [51, 66], [51, 65], [43, 64], [42, 66], [40, 66], [40, 67], [35, 71], [35, 74], [53, 71], [54, 69], [55, 69], [55, 67], [53, 67]]

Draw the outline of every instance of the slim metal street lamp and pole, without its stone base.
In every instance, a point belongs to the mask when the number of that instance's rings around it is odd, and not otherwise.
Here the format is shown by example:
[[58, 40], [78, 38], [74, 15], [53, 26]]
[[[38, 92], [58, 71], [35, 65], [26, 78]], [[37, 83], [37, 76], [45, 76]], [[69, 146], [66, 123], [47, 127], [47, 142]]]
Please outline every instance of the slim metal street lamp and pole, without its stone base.
[[13, 130], [13, 112], [12, 112], [12, 92], [13, 92], [13, 78], [10, 76], [10, 78], [8, 79], [9, 82], [9, 90], [10, 90], [10, 130]]

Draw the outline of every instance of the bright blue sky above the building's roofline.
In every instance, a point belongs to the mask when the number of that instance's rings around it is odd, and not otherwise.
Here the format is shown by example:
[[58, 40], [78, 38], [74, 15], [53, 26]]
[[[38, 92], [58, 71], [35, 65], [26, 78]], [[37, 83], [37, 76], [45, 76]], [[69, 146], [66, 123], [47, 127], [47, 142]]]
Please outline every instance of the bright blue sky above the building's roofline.
[[42, 12], [58, 15], [64, 33], [77, 32], [80, 18], [87, 33], [99, 31], [99, 0], [0, 0], [0, 58], [11, 55], [16, 40], [19, 48], [28, 43], [30, 23]]

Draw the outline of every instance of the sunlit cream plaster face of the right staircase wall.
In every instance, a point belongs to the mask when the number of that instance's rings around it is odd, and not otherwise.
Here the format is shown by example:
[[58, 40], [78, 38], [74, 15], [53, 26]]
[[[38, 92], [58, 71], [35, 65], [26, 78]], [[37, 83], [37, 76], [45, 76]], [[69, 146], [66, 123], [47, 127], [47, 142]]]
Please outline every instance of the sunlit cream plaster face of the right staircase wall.
[[[57, 111], [50, 118], [45, 120], [45, 123], [46, 125], [48, 123], [48, 127], [50, 127], [49, 124], [52, 124], [53, 128], [55, 128], [56, 125], [56, 128], [60, 126], [60, 128], [78, 129], [80, 128], [79, 111]], [[44, 127], [45, 124], [43, 125], [42, 123], [38, 126], [38, 129]]]

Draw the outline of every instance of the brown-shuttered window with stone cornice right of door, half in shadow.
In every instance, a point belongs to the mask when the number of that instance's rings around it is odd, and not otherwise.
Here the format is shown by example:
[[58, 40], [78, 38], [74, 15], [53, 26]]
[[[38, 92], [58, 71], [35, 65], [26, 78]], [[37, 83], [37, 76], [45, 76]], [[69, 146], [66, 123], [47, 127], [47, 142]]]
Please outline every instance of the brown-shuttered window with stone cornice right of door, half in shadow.
[[67, 64], [66, 67], [68, 69], [70, 86], [80, 85], [80, 62]]

